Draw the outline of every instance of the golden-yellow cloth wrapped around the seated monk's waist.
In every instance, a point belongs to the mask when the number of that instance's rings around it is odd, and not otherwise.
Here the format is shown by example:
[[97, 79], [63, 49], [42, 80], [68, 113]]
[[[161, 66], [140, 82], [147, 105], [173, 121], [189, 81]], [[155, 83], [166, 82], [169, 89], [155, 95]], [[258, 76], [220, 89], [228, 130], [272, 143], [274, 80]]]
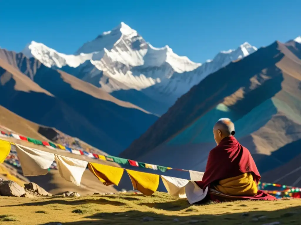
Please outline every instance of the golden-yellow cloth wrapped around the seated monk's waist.
[[231, 196], [255, 196], [258, 191], [252, 173], [220, 180], [215, 189]]

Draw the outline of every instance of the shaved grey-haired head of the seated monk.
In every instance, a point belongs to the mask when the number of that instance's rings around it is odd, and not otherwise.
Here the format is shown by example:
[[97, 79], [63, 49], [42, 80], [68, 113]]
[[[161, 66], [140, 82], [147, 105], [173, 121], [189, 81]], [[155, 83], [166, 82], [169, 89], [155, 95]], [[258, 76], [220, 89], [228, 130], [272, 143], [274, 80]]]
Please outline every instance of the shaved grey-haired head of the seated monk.
[[235, 134], [234, 124], [229, 118], [219, 119], [213, 127], [214, 140], [216, 144], [225, 138]]

